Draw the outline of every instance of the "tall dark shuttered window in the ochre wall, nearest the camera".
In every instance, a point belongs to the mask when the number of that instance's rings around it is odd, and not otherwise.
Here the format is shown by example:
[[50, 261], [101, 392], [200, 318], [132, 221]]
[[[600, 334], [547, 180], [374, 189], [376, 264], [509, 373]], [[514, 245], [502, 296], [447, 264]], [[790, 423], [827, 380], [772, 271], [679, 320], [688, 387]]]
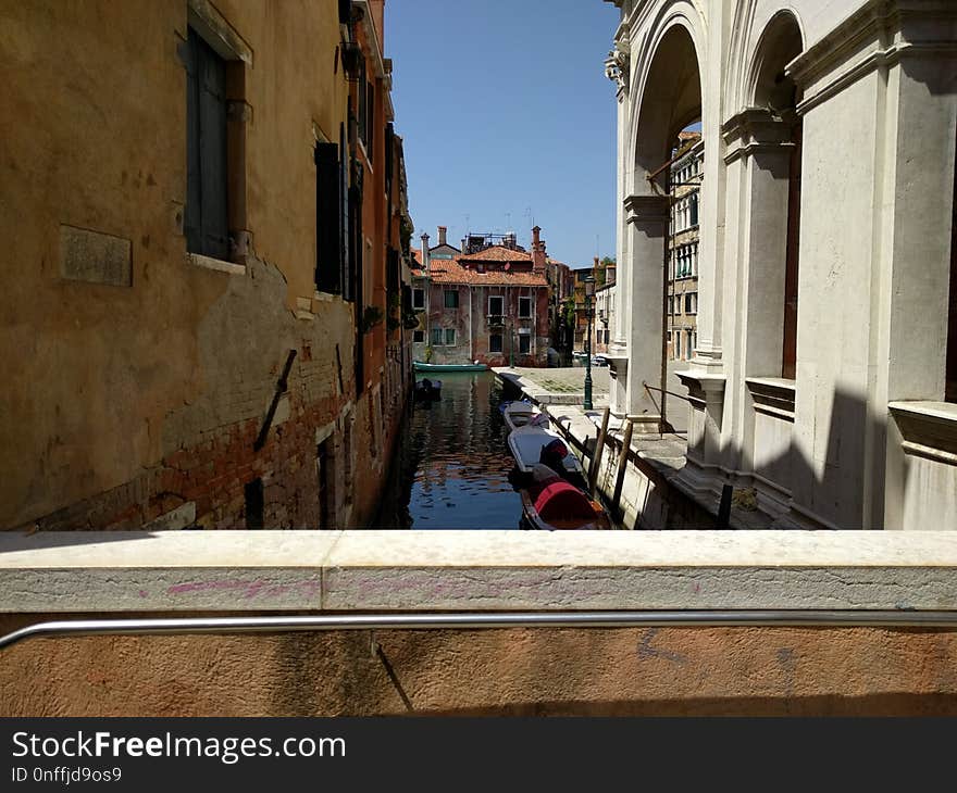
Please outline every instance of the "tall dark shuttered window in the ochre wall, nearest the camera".
[[229, 254], [226, 203], [226, 62], [189, 28], [186, 59], [186, 248]]

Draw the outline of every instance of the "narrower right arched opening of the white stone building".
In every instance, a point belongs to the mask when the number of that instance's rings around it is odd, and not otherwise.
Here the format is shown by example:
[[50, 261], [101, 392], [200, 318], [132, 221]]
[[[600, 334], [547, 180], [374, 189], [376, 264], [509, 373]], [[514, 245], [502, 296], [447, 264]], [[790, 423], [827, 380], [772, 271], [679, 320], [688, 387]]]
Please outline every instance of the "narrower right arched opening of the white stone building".
[[[767, 113], [774, 125], [783, 131], [774, 135], [775, 142], [787, 146], [787, 161], [775, 163], [774, 178], [786, 180], [787, 189], [778, 190], [779, 216], [786, 218], [784, 261], [775, 264], [783, 268], [783, 295], [769, 295], [781, 305], [781, 365], [774, 374], [793, 380], [797, 366], [797, 284], [798, 238], [800, 232], [800, 169], [801, 169], [801, 118], [797, 114], [800, 92], [794, 80], [785, 73], [785, 66], [804, 49], [800, 27], [791, 13], [775, 15], [758, 47], [754, 104]], [[780, 202], [783, 202], [781, 205]], [[780, 250], [780, 249], [779, 249]]]

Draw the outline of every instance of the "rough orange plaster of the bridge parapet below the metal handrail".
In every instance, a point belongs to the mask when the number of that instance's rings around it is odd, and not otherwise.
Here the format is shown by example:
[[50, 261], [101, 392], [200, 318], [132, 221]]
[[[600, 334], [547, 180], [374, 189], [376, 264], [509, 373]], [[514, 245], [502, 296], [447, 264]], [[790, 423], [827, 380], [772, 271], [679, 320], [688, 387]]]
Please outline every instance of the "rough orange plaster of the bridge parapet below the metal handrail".
[[929, 630], [90, 637], [3, 662], [7, 717], [957, 714], [957, 633]]

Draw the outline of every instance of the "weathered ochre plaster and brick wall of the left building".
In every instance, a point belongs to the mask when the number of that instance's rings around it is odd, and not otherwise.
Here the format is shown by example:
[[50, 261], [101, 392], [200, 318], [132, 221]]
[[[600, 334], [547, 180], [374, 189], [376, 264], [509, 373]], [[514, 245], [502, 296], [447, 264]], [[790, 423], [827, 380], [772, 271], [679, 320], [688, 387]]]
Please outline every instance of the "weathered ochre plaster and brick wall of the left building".
[[[187, 8], [0, 7], [0, 232], [15, 263], [0, 297], [0, 446], [17, 450], [0, 461], [0, 527], [135, 527], [190, 502], [199, 525], [243, 526], [257, 476], [272, 488], [268, 525], [314, 526], [316, 430], [341, 424], [355, 393], [353, 309], [314, 287], [315, 135], [338, 141], [346, 117], [337, 3], [216, 3], [252, 59], [235, 197], [245, 274], [186, 255]], [[61, 277], [64, 225], [127, 250], [128, 286]], [[253, 454], [289, 350], [288, 398]], [[378, 366], [366, 367], [376, 382]], [[368, 517], [381, 479], [383, 452], [369, 450], [385, 420], [365, 399], [372, 389], [350, 414], [352, 471], [373, 487], [343, 519]]]

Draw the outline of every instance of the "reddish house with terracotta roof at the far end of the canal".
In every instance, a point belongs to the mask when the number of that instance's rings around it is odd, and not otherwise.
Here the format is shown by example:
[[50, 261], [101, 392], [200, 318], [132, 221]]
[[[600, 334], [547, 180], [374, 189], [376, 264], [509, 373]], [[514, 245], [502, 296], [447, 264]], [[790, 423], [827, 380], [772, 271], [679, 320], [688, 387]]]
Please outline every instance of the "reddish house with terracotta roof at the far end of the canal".
[[[539, 228], [532, 253], [514, 244], [482, 248], [492, 237], [472, 235], [463, 251], [448, 246], [439, 227], [439, 256], [422, 235], [412, 269], [415, 361], [489, 366], [545, 366], [549, 341], [545, 243]], [[448, 250], [451, 249], [451, 250]]]

